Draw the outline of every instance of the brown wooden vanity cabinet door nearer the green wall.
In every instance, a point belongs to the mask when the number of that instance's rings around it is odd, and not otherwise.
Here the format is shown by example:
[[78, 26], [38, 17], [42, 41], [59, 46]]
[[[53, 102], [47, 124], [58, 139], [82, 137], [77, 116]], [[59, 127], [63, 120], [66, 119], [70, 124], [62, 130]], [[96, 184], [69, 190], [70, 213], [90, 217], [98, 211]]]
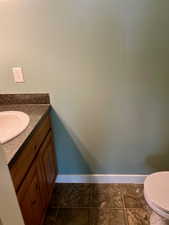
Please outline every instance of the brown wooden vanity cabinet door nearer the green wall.
[[41, 149], [41, 165], [46, 179], [46, 189], [48, 191], [48, 201], [50, 200], [56, 178], [56, 157], [52, 141], [52, 133], [49, 132]]

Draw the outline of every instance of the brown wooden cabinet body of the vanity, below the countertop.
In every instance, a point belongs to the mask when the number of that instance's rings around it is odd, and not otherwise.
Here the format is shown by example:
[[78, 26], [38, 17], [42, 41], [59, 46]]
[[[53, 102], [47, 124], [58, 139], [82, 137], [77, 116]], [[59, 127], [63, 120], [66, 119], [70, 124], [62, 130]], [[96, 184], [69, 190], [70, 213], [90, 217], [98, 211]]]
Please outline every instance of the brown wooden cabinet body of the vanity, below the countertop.
[[[30, 157], [31, 160], [27, 158], [29, 157], [28, 150], [34, 156]], [[26, 158], [27, 161], [25, 161]], [[55, 184], [56, 168], [52, 130], [48, 115], [35, 130], [33, 137], [10, 168], [26, 225], [42, 225]], [[17, 171], [18, 174], [16, 174]]]

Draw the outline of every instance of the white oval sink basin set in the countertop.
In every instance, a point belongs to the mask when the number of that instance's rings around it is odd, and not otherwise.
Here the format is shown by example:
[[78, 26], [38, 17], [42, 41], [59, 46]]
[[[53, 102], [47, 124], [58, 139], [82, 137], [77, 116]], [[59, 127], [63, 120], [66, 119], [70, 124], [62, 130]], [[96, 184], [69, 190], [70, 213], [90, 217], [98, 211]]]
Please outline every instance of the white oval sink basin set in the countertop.
[[0, 112], [0, 143], [3, 144], [26, 129], [29, 116], [20, 111]]

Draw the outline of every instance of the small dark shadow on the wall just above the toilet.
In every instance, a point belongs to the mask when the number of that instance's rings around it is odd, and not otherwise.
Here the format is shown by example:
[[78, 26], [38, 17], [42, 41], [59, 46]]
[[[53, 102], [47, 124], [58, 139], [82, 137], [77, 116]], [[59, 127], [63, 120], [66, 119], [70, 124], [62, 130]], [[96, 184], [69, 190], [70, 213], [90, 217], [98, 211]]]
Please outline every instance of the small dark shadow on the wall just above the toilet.
[[157, 171], [169, 170], [169, 144], [159, 153], [147, 157], [147, 163]]

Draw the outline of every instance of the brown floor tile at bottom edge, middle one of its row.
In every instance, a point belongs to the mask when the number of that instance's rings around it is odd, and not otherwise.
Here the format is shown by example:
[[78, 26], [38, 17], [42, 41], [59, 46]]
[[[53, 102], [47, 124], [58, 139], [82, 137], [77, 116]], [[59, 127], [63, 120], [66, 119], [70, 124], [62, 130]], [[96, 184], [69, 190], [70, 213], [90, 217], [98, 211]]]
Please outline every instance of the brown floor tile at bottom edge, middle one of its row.
[[122, 209], [91, 208], [90, 225], [125, 225], [124, 212]]

